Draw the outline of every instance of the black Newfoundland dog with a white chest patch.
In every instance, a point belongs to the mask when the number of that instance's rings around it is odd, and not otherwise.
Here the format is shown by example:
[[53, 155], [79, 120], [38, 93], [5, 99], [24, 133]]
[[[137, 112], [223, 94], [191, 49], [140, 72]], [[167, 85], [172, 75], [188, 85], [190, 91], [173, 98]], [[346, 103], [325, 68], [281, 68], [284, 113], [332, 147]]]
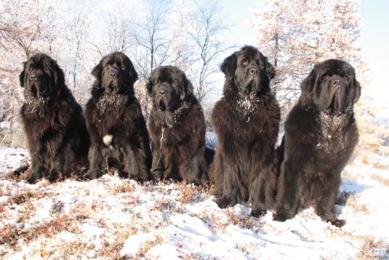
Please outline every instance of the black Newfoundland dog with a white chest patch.
[[93, 68], [91, 95], [85, 118], [91, 139], [89, 170], [85, 178], [103, 175], [115, 167], [120, 177], [150, 178], [151, 150], [141, 105], [134, 95], [138, 74], [121, 52], [104, 56]]

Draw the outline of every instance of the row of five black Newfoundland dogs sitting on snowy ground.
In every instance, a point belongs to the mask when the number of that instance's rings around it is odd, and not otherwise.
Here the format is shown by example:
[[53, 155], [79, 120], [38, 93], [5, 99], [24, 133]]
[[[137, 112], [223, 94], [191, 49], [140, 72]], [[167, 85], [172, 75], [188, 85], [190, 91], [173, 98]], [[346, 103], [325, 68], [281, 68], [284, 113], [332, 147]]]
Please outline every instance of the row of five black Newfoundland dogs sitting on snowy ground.
[[285, 221], [300, 206], [313, 206], [324, 221], [342, 226], [334, 205], [340, 173], [358, 140], [354, 68], [337, 59], [315, 65], [301, 83], [277, 149], [280, 109], [270, 91], [275, 68], [257, 48], [245, 46], [223, 61], [221, 71], [224, 95], [212, 110], [212, 150], [205, 145], [204, 114], [193, 86], [177, 67], [160, 66], [149, 78], [147, 128], [134, 93], [138, 74], [123, 53], [111, 53], [93, 68], [84, 113], [56, 61], [32, 56], [20, 74], [20, 113], [31, 155], [27, 182], [53, 182], [71, 173], [95, 179], [109, 168], [143, 181], [211, 181], [220, 207], [248, 202], [252, 216], [273, 210], [274, 220]]

